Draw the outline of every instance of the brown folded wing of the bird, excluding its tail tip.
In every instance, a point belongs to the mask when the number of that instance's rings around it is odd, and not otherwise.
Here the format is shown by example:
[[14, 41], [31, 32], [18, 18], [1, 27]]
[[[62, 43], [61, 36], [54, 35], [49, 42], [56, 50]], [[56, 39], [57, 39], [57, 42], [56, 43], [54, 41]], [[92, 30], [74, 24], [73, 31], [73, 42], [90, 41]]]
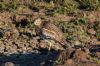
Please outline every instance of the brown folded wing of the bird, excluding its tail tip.
[[57, 41], [61, 41], [64, 38], [61, 30], [52, 23], [45, 24], [42, 30], [46, 36], [49, 36]]

